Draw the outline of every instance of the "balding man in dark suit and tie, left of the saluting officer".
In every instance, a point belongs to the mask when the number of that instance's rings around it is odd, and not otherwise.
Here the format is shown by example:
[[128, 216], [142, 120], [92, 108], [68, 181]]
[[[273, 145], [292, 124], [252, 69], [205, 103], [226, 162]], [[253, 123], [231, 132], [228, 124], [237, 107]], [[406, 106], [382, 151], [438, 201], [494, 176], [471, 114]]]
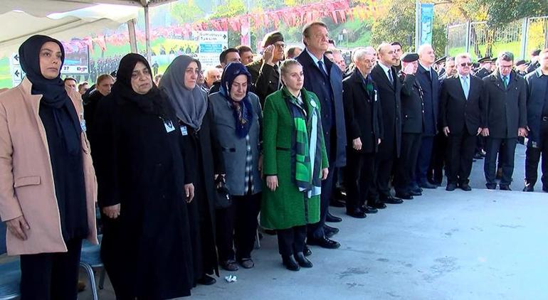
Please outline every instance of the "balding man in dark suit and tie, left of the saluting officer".
[[396, 77], [394, 65], [398, 63], [398, 58], [393, 46], [381, 43], [377, 55], [379, 60], [371, 71], [371, 77], [379, 91], [384, 134], [379, 154], [375, 157], [376, 191], [372, 194], [378, 195], [380, 200], [376, 208], [386, 208], [384, 203], [403, 202], [390, 193], [392, 166], [401, 149], [401, 82]]

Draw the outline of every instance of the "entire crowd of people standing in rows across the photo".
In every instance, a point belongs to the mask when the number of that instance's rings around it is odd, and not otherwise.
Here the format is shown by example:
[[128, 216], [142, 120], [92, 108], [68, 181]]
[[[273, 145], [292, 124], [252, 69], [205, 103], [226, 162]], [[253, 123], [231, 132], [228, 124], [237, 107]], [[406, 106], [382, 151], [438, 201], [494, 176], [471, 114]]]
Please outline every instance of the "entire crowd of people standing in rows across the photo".
[[23, 299], [76, 299], [82, 240], [98, 232], [117, 299], [189, 296], [219, 267], [253, 268], [260, 227], [285, 268], [310, 268], [309, 246], [340, 247], [330, 205], [364, 219], [444, 176], [446, 191], [471, 191], [474, 159], [487, 188], [508, 191], [519, 139], [523, 191], [542, 157], [548, 192], [548, 49], [475, 68], [395, 41], [347, 65], [319, 21], [302, 43], [275, 31], [260, 55], [228, 48], [206, 70], [178, 55], [163, 75], [130, 53], [112, 75], [97, 62], [90, 87], [61, 80], [60, 42], [24, 42], [26, 78], [0, 94], [0, 216]]

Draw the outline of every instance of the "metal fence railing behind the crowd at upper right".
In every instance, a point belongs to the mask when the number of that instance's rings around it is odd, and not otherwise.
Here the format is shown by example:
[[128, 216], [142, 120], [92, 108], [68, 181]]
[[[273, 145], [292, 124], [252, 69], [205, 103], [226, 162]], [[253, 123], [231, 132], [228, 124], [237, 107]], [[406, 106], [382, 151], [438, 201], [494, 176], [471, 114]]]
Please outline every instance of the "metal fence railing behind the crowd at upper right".
[[487, 22], [447, 26], [446, 55], [468, 52], [473, 59], [510, 51], [528, 58], [534, 49], [548, 48], [548, 16], [523, 18], [506, 26], [489, 27]]

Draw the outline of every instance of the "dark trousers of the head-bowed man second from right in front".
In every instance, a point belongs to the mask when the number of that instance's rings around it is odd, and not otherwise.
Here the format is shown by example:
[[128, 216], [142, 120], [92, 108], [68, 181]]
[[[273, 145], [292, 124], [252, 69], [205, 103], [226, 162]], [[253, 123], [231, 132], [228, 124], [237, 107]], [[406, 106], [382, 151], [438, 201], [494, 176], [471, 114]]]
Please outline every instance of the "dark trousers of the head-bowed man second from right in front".
[[500, 155], [502, 147], [504, 155], [499, 156], [499, 163], [502, 165], [501, 186], [510, 186], [512, 183], [512, 174], [514, 173], [514, 156], [516, 150], [517, 138], [499, 139], [488, 136], [485, 144], [485, 161], [483, 172], [485, 173], [486, 186], [496, 186], [497, 182], [497, 154]]

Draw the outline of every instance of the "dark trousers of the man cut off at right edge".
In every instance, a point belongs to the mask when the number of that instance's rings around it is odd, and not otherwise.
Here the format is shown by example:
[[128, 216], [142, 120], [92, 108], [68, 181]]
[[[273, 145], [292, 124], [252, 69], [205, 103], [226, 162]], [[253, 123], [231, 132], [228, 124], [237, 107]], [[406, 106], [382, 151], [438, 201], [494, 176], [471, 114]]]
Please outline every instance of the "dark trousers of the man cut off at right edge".
[[548, 121], [542, 121], [540, 142], [537, 147], [527, 147], [525, 151], [525, 183], [534, 186], [537, 183], [539, 161], [542, 156], [542, 186], [548, 189]]

